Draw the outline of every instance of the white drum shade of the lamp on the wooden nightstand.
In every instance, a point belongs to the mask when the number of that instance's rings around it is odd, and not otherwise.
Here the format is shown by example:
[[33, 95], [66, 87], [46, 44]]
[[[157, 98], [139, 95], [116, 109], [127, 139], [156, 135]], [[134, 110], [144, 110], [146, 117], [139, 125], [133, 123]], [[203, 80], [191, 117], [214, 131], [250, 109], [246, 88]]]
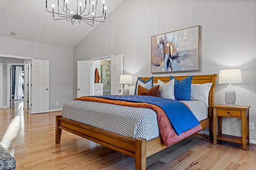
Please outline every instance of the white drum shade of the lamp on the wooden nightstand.
[[220, 70], [219, 84], [243, 83], [241, 69]]

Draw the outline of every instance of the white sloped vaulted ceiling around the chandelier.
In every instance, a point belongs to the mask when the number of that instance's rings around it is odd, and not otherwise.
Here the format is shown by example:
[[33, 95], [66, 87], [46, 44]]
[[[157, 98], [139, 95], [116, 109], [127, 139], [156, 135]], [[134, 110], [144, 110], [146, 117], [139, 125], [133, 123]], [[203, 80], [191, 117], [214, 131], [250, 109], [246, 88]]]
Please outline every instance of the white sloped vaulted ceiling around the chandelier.
[[[84, 0], [79, 1], [84, 2]], [[122, 0], [105, 0], [106, 20], [108, 14], [120, 2]], [[76, 0], [70, 0], [69, 3], [76, 3]], [[100, 3], [101, 0], [98, 1], [99, 5]], [[57, 0], [48, 0], [48, 10], [52, 9], [52, 4], [57, 6]], [[0, 8], [0, 35], [32, 42], [73, 48], [99, 24], [95, 22], [94, 26], [90, 26], [76, 21], [71, 25], [71, 21], [53, 20], [52, 14], [46, 11], [45, 0], [0, 0]], [[13, 36], [11, 32], [17, 34]]]

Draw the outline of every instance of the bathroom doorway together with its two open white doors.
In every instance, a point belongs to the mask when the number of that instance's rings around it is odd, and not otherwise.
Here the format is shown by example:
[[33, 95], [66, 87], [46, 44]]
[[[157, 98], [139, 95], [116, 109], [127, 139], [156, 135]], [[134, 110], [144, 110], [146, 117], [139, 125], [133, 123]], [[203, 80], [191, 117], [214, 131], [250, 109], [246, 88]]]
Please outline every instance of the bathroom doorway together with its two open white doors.
[[77, 97], [103, 95], [103, 86], [106, 87], [104, 95], [122, 95], [122, 84], [119, 83], [122, 74], [122, 54], [77, 61]]

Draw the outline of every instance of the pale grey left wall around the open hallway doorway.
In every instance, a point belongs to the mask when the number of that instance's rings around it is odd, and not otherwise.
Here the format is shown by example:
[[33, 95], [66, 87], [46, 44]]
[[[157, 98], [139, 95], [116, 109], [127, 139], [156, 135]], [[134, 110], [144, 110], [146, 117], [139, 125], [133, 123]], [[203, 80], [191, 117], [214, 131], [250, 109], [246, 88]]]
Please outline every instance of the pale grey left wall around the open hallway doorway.
[[[50, 110], [62, 109], [66, 101], [73, 99], [73, 49], [0, 37], [0, 53], [48, 60], [50, 64]], [[58, 105], [55, 105], [55, 102]]]

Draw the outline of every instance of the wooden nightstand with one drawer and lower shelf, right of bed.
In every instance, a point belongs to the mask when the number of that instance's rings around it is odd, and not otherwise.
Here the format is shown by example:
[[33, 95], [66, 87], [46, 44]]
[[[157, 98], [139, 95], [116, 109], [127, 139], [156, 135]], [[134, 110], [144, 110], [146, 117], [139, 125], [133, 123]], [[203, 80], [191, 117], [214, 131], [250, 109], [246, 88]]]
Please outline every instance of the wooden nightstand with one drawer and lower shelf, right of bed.
[[[243, 144], [243, 150], [249, 145], [249, 108], [250, 106], [234, 106], [213, 105], [213, 144], [217, 143], [217, 139], [226, 140]], [[217, 117], [219, 134], [217, 135]], [[222, 117], [239, 118], [242, 123], [242, 137], [222, 134]]]

